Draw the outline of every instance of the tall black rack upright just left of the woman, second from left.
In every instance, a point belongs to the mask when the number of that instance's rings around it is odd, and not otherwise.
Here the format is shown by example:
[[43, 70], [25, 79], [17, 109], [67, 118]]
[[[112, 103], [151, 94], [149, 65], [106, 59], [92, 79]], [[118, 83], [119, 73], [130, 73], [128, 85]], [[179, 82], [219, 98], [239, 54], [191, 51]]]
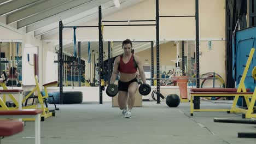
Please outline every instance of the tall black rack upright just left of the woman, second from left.
[[102, 29], [101, 29], [101, 5], [98, 6], [98, 51], [99, 51], [99, 61], [98, 61], [98, 71], [99, 75], [99, 88], [100, 88], [100, 104], [102, 104], [102, 89], [101, 89], [101, 79], [102, 79]]

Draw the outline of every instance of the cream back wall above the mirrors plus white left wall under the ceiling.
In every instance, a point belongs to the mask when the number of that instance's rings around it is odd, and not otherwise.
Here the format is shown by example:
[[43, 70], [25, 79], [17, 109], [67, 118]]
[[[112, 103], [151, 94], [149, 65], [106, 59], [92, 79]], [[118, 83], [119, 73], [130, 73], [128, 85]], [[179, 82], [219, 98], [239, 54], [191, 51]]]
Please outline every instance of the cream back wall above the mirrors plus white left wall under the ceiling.
[[[200, 73], [216, 71], [225, 79], [225, 1], [201, 0], [199, 11], [200, 25]], [[211, 7], [209, 7], [209, 5]], [[160, 15], [194, 15], [195, 1], [188, 0], [161, 0]], [[144, 1], [132, 7], [118, 11], [117, 13], [103, 17], [103, 20], [154, 20], [155, 2]], [[173, 17], [160, 18], [160, 40], [195, 40], [195, 18]], [[6, 22], [4, 18], [0, 22]], [[111, 23], [109, 23], [111, 24]], [[94, 21], [81, 23], [80, 25], [97, 25], [97, 17]], [[15, 27], [15, 26], [13, 26]], [[53, 43], [46, 44], [39, 38], [34, 38], [33, 33], [20, 34], [8, 28], [0, 26], [0, 40], [22, 40], [22, 47], [30, 44], [39, 50], [39, 83], [57, 80], [56, 58]], [[25, 30], [23, 30], [25, 32]], [[104, 40], [155, 40], [155, 26], [144, 27], [104, 27]], [[48, 39], [59, 40], [59, 34]], [[73, 39], [73, 30], [63, 32], [63, 39]], [[79, 29], [77, 39], [98, 39], [98, 29]], [[212, 40], [212, 50], [208, 50], [207, 41]], [[55, 70], [53, 70], [55, 69]]]

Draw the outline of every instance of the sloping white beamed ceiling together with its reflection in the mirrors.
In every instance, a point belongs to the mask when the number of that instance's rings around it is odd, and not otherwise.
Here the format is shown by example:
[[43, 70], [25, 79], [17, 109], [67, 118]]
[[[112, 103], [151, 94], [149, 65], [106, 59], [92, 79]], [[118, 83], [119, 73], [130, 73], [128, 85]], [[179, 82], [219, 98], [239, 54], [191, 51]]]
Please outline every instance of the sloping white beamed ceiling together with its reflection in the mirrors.
[[[120, 7], [115, 7], [114, 1], [116, 0], [0, 0], [0, 17], [6, 17], [6, 25], [25, 29], [26, 33], [33, 33], [34, 37], [44, 40], [59, 34], [60, 20], [65, 26], [79, 26], [81, 23], [98, 19], [99, 5], [102, 5], [102, 16], [106, 16], [145, 0], [119, 0]], [[55, 49], [59, 49], [59, 41], [49, 42], [48, 39], [48, 43], [54, 43]], [[73, 55], [73, 45], [73, 41], [63, 43], [63, 52]], [[150, 43], [133, 45], [135, 52], [151, 47]], [[90, 47], [91, 50], [98, 51], [98, 42], [91, 42]], [[103, 42], [103, 49], [107, 53], [107, 42]], [[113, 56], [120, 53], [121, 43], [113, 43]], [[88, 42], [82, 42], [81, 54], [82, 58], [87, 57]]]

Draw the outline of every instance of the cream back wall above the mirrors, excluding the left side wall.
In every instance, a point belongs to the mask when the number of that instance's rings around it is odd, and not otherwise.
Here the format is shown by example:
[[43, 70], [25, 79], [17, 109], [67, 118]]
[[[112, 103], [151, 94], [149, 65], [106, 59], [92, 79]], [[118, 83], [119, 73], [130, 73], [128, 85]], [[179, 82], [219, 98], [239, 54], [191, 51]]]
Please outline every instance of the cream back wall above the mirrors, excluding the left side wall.
[[[199, 1], [200, 27], [200, 73], [216, 71], [225, 79], [225, 1]], [[211, 7], [209, 7], [211, 5]], [[194, 15], [195, 1], [161, 0], [160, 15]], [[103, 17], [103, 20], [154, 20], [155, 1], [144, 1], [117, 13]], [[105, 23], [106, 24], [106, 23]], [[113, 23], [108, 23], [113, 24]], [[120, 23], [127, 24], [127, 23]], [[79, 26], [97, 25], [94, 21]], [[98, 29], [79, 29], [78, 39], [97, 40]], [[104, 40], [155, 40], [155, 27], [104, 27]], [[59, 39], [56, 34], [48, 39]], [[63, 32], [63, 39], [73, 39], [73, 30]], [[160, 17], [160, 40], [195, 40], [194, 17]], [[212, 49], [208, 50], [208, 40], [212, 40]], [[194, 50], [195, 51], [195, 50]], [[160, 51], [161, 52], [161, 51]], [[194, 53], [191, 52], [193, 55]], [[210, 56], [212, 59], [210, 59]]]

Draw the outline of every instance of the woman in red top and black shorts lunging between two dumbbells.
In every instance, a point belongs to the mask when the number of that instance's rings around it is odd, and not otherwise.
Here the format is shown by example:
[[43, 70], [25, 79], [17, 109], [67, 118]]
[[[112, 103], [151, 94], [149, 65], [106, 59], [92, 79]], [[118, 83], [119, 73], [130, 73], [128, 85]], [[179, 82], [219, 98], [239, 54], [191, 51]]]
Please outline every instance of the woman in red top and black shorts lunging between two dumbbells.
[[132, 53], [132, 42], [129, 39], [123, 41], [124, 53], [115, 58], [113, 73], [110, 83], [114, 83], [120, 73], [118, 81], [118, 105], [126, 118], [131, 118], [131, 109], [135, 103], [135, 92], [138, 88], [136, 76], [137, 69], [142, 82], [146, 83], [146, 77], [142, 62]]

